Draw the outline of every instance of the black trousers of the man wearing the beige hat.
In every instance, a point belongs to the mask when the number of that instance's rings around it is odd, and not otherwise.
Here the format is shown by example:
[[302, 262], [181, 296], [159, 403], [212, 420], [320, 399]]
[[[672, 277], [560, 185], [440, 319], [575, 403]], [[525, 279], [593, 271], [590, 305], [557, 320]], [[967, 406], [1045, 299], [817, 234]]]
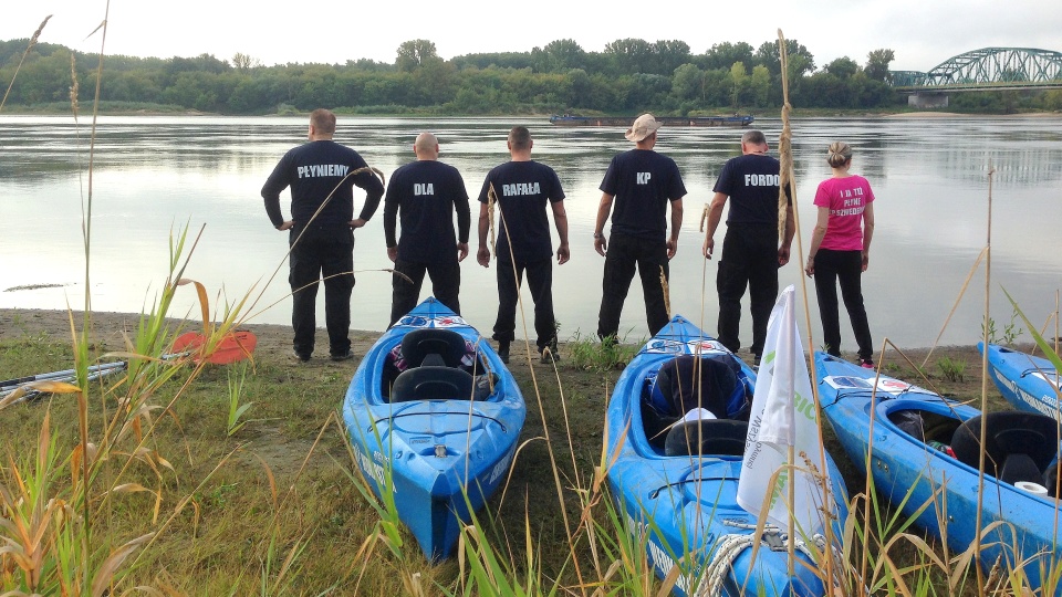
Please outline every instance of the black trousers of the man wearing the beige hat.
[[620, 332], [620, 314], [627, 298], [634, 271], [642, 277], [642, 294], [645, 297], [645, 320], [649, 335], [667, 325], [667, 305], [660, 270], [668, 277], [667, 245], [659, 240], [613, 232], [605, 253], [605, 272], [602, 280], [601, 311], [597, 314], [597, 336], [616, 336]]

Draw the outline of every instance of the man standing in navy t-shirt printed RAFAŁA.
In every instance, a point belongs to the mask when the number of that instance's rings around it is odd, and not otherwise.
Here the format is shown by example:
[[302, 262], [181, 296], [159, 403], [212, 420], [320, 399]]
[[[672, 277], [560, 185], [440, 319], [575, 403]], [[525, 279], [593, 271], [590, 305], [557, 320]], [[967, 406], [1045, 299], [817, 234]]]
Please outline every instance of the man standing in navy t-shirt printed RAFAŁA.
[[516, 338], [517, 302], [520, 282], [528, 274], [528, 287], [534, 300], [535, 346], [542, 363], [559, 358], [556, 354], [556, 325], [553, 317], [553, 243], [550, 239], [550, 220], [545, 206], [553, 210], [553, 221], [561, 244], [556, 249], [556, 263], [568, 262], [568, 213], [564, 211], [564, 189], [553, 168], [531, 159], [531, 132], [524, 126], [509, 132], [508, 146], [511, 161], [490, 170], [479, 193], [479, 251], [477, 261], [490, 266], [490, 248], [487, 232], [490, 228], [490, 191], [501, 208], [498, 223], [498, 318], [493, 338], [498, 341], [498, 355], [509, 363], [509, 344]]

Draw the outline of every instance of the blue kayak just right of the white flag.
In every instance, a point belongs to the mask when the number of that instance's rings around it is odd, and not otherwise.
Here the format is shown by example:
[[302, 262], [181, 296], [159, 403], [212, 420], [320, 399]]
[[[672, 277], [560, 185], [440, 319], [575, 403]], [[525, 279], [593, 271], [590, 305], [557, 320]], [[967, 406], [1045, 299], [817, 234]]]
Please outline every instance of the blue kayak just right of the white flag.
[[1037, 589], [1041, 568], [1062, 563], [1062, 534], [1055, 527], [1060, 513], [1050, 494], [1055, 491], [1056, 472], [1051, 471], [1056, 471], [1059, 451], [1054, 419], [1013, 410], [982, 416], [972, 407], [884, 375], [876, 383], [872, 406], [876, 371], [825, 353], [815, 353], [815, 363], [823, 412], [852, 462], [866, 474], [873, 413], [871, 469], [877, 491], [908, 516], [934, 502], [915, 519], [918, 526], [946, 536], [952, 553], [972, 543], [983, 426], [981, 528], [996, 521], [1004, 524], [982, 537], [982, 568], [989, 570], [997, 558], [1007, 569], [1023, 566], [1031, 588]]

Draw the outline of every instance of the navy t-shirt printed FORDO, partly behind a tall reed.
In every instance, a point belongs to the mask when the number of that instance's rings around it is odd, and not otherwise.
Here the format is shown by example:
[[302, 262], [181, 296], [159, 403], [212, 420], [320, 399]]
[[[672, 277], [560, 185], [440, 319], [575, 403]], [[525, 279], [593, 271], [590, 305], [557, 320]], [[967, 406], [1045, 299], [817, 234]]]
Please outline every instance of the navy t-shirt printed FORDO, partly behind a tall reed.
[[778, 226], [779, 163], [747, 154], [727, 160], [712, 192], [730, 197], [727, 223]]

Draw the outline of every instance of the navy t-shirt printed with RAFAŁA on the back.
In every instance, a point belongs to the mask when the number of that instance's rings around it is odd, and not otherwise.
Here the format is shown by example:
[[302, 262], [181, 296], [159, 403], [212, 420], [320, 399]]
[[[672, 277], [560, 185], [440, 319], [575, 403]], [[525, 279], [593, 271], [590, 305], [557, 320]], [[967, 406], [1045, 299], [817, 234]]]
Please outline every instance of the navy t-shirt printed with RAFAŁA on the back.
[[504, 218], [504, 224], [499, 218], [496, 229], [498, 259], [510, 260], [510, 235], [512, 256], [517, 260], [550, 259], [553, 255], [553, 242], [545, 207], [564, 200], [564, 189], [553, 168], [538, 161], [508, 161], [497, 166], [483, 180], [483, 188], [479, 192], [481, 203], [488, 202], [491, 185]]

